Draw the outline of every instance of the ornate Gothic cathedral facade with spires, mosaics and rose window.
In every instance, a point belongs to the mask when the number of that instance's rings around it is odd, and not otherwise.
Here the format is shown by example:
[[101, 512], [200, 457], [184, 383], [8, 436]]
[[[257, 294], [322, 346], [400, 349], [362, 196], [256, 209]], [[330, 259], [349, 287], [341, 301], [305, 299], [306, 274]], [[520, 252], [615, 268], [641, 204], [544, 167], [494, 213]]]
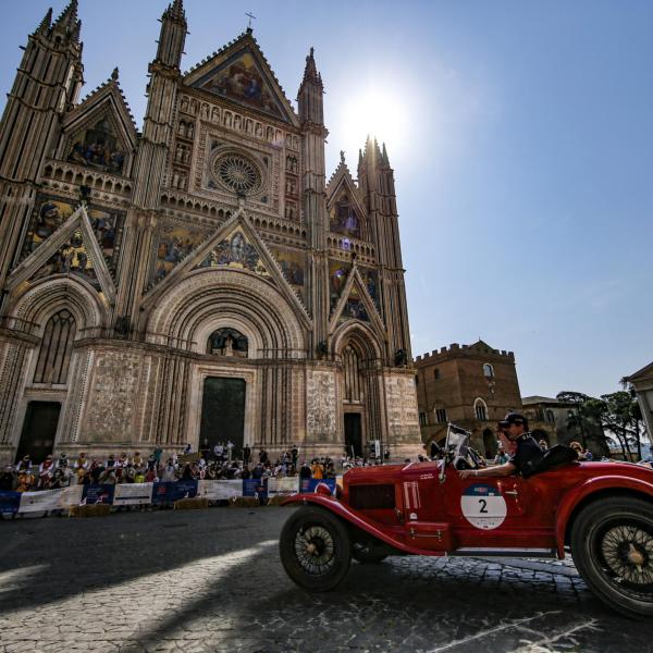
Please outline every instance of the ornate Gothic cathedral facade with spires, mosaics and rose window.
[[118, 70], [78, 100], [76, 0], [28, 37], [0, 124], [0, 457], [415, 455], [385, 147], [326, 180], [312, 49], [295, 110], [251, 29], [182, 73], [186, 34], [174, 0], [141, 132]]

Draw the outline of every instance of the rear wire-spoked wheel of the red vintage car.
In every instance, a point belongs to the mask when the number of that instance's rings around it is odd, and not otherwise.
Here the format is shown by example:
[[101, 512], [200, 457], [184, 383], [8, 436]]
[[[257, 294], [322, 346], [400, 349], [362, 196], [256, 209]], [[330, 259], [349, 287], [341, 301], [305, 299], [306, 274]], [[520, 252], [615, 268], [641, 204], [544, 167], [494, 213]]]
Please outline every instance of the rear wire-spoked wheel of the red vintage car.
[[653, 504], [614, 496], [582, 509], [571, 555], [589, 588], [629, 617], [653, 617]]

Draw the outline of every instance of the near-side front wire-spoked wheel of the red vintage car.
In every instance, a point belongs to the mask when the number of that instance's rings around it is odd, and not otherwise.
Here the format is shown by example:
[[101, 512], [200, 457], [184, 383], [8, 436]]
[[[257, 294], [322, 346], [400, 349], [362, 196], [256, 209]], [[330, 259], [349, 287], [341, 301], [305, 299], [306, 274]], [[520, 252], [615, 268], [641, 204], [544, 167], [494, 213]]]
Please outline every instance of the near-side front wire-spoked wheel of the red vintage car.
[[285, 522], [279, 542], [286, 574], [305, 590], [326, 592], [345, 578], [352, 560], [349, 535], [328, 510], [305, 506]]

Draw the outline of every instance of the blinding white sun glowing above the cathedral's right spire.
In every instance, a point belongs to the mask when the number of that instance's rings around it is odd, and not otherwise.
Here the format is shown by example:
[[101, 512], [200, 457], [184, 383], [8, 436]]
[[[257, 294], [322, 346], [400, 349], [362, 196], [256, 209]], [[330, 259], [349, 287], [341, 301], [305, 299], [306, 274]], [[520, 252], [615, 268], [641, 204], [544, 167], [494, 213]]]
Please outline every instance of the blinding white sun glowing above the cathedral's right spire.
[[402, 149], [406, 137], [406, 112], [397, 98], [385, 90], [371, 88], [357, 94], [344, 103], [341, 120], [347, 147], [365, 147], [369, 134], [379, 140], [379, 145], [385, 143], [391, 156]]

